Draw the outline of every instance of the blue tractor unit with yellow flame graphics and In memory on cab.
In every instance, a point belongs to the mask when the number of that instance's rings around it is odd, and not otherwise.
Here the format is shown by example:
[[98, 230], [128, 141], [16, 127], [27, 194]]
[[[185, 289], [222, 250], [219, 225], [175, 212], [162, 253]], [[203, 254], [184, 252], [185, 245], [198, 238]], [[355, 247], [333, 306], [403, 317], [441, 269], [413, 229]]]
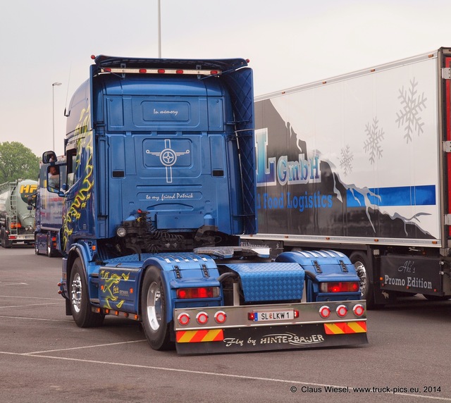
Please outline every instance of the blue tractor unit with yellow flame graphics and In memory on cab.
[[366, 343], [344, 254], [240, 244], [257, 232], [247, 61], [93, 59], [48, 187], [63, 199], [66, 314], [83, 328], [140, 321], [152, 348], [180, 354]]

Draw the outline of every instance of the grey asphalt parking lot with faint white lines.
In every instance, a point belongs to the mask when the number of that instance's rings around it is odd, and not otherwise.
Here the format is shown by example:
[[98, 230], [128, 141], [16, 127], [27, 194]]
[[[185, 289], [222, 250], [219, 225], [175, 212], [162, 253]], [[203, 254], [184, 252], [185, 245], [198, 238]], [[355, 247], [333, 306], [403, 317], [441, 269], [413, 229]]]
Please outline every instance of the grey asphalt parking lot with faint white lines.
[[369, 344], [180, 356], [140, 324], [78, 328], [58, 295], [61, 259], [0, 247], [0, 402], [451, 402], [451, 302], [368, 312]]

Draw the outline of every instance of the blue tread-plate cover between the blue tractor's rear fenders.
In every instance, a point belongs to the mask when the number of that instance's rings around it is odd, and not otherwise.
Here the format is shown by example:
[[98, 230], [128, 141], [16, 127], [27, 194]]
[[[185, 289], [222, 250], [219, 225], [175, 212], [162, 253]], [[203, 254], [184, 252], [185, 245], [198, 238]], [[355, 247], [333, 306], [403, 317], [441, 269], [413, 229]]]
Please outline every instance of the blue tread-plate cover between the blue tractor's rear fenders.
[[241, 278], [246, 302], [301, 299], [304, 270], [297, 263], [228, 264]]

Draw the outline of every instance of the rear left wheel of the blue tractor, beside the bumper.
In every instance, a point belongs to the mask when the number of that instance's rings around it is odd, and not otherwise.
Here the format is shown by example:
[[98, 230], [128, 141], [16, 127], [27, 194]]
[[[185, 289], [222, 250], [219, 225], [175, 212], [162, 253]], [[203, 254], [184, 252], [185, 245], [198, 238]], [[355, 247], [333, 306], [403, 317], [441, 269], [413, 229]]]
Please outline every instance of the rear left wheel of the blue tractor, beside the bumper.
[[155, 350], [173, 348], [170, 323], [166, 321], [166, 294], [161, 271], [149, 266], [144, 274], [141, 293], [142, 328]]

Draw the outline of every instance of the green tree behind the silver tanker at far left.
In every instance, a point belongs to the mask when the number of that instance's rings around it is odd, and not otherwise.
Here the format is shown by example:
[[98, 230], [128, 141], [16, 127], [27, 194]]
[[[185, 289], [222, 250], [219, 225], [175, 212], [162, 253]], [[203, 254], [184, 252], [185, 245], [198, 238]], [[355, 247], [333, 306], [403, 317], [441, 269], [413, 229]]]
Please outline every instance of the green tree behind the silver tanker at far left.
[[0, 183], [16, 179], [37, 180], [39, 158], [19, 142], [0, 143]]

